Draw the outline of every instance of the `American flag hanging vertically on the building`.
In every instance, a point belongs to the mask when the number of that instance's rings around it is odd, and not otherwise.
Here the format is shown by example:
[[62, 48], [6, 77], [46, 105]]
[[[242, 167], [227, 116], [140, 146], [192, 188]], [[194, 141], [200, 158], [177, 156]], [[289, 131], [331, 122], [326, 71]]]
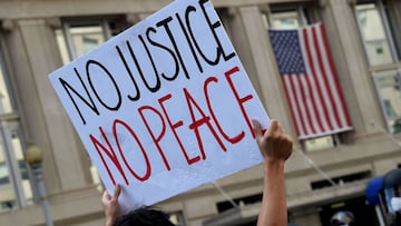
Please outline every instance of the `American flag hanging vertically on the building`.
[[351, 130], [323, 24], [268, 33], [299, 139]]

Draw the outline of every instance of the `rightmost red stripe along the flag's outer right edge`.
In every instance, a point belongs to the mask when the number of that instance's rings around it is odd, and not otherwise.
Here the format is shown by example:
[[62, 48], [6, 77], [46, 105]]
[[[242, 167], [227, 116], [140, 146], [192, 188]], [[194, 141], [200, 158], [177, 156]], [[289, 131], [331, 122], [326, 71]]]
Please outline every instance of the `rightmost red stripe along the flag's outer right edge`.
[[[333, 59], [332, 59], [332, 56], [330, 53], [329, 43], [327, 43], [325, 31], [324, 31], [324, 28], [323, 28], [322, 23], [319, 24], [319, 29], [321, 30], [321, 33], [322, 33], [323, 46], [324, 46], [324, 49], [325, 49], [325, 52], [326, 52], [326, 58], [327, 58], [327, 61], [329, 61], [329, 65], [330, 65], [330, 70], [333, 73], [333, 80], [335, 82], [334, 86], [335, 86], [335, 89], [336, 89], [339, 98], [340, 98], [341, 110], [343, 111], [343, 114], [345, 116], [346, 126], [351, 126], [351, 119], [350, 119], [350, 116], [349, 116], [349, 114], [346, 111], [344, 97], [342, 96], [342, 92], [340, 91], [341, 88], [340, 88], [339, 78], [338, 78], [336, 70], [335, 70], [334, 65], [333, 65]], [[342, 127], [344, 125], [342, 125]]]

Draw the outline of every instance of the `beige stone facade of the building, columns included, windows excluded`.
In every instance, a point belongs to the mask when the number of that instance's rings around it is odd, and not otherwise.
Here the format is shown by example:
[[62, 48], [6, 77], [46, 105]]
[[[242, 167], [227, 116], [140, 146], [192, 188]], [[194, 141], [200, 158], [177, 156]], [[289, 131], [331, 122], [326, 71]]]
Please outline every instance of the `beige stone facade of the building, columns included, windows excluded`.
[[[214, 2], [222, 11], [225, 9], [222, 20], [270, 116], [277, 118], [285, 131], [295, 137], [261, 16], [261, 9], [268, 9], [268, 3], [286, 1]], [[101, 194], [90, 181], [85, 150], [48, 82], [48, 73], [61, 66], [53, 30], [60, 27], [59, 21], [65, 17], [149, 13], [167, 3], [169, 1], [159, 0], [102, 0], [96, 4], [89, 0], [0, 0], [1, 36], [7, 46], [11, 79], [17, 87], [21, 124], [26, 137], [45, 150], [46, 187], [56, 225], [101, 225], [102, 207]], [[307, 154], [309, 159], [330, 177], [364, 170], [372, 171], [373, 176], [383, 175], [401, 164], [400, 146], [382, 131], [384, 124], [363, 57], [352, 4], [346, 0], [325, 0], [320, 1], [319, 6], [315, 10], [326, 26], [354, 130], [344, 136], [342, 145]], [[313, 196], [311, 181], [324, 178], [299, 151], [301, 145], [296, 143], [295, 151], [286, 164], [290, 207], [313, 206], [324, 199], [338, 198], [339, 194], [345, 197], [350, 193], [363, 191], [365, 181], [354, 188], [344, 188], [343, 193], [339, 188]], [[241, 198], [262, 191], [262, 168], [257, 166], [217, 183], [232, 198]], [[163, 202], [160, 206], [172, 213], [182, 212], [188, 225], [197, 226], [216, 215], [216, 203], [224, 200], [213, 185], [206, 185]], [[313, 208], [296, 210], [294, 219], [300, 225], [320, 224]], [[29, 206], [13, 213], [2, 213], [0, 225], [43, 225], [41, 208]]]

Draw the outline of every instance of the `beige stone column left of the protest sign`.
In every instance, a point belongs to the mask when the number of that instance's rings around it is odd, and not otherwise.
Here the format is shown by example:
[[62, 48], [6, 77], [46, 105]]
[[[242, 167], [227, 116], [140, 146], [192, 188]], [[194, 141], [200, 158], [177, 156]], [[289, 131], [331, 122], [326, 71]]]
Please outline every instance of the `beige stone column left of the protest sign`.
[[26, 135], [43, 149], [49, 195], [88, 187], [88, 159], [48, 75], [61, 66], [53, 27], [56, 19], [12, 21], [6, 32], [11, 80]]

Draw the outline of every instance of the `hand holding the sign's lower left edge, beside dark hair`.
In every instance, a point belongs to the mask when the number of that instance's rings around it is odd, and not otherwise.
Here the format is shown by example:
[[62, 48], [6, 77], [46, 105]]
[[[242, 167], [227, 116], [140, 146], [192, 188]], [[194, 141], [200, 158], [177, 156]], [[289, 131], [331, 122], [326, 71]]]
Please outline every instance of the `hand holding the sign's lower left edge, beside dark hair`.
[[121, 186], [115, 187], [113, 196], [107, 190], [101, 196], [101, 203], [105, 208], [106, 226], [113, 226], [119, 216], [118, 196], [121, 193]]

